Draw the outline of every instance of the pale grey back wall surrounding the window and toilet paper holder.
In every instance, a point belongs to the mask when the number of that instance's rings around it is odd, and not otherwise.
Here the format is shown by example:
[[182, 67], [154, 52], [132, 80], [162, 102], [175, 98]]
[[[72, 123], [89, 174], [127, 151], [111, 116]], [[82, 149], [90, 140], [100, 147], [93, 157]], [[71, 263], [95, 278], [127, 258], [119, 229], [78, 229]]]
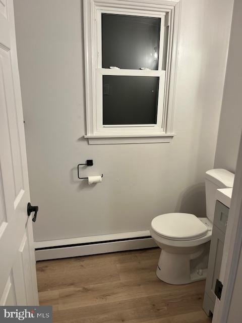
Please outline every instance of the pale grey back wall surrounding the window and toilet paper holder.
[[[85, 134], [82, 2], [15, 0], [36, 241], [149, 229], [172, 211], [205, 214], [232, 0], [183, 0], [171, 143], [91, 145]], [[88, 186], [83, 175], [104, 174]], [[89, 171], [89, 172], [88, 172]]]

